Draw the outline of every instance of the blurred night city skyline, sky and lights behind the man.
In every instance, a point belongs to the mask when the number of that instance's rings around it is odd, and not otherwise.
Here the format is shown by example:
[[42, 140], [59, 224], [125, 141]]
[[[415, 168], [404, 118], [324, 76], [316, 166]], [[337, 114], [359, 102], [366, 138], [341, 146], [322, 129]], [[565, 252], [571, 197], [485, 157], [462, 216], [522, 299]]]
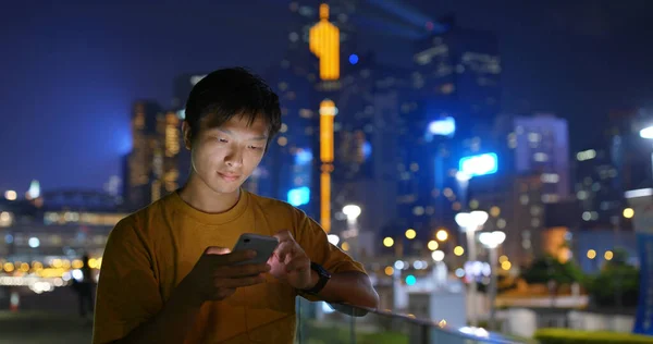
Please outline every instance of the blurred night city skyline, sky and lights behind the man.
[[653, 333], [651, 11], [3, 3], [0, 342], [89, 341], [107, 235], [183, 185], [185, 100], [233, 65], [283, 112], [245, 187], [318, 220], [381, 308], [519, 339]]

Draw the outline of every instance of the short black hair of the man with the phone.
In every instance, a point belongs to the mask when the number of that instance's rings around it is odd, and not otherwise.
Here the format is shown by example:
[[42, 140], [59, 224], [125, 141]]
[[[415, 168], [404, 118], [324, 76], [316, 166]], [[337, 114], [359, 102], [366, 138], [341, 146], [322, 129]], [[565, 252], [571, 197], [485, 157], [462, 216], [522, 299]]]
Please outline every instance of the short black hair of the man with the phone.
[[244, 67], [214, 71], [199, 81], [186, 101], [185, 121], [193, 140], [202, 120], [210, 115], [209, 127], [218, 127], [234, 115], [248, 119], [248, 124], [262, 118], [268, 123], [268, 143], [281, 128], [279, 96], [258, 75]]

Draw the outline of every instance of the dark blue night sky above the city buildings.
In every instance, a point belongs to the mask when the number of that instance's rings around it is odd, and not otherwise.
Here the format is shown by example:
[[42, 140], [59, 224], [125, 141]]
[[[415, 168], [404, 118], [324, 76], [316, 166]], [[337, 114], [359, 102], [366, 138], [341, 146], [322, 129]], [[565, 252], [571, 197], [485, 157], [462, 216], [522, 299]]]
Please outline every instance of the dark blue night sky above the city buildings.
[[[285, 51], [286, 1], [119, 2], [2, 5], [0, 192], [23, 193], [33, 179], [45, 189], [101, 188], [130, 150], [135, 99], [169, 106], [178, 74], [235, 64], [262, 72]], [[608, 110], [653, 105], [652, 1], [408, 2], [494, 30], [504, 110], [568, 119], [572, 149]], [[410, 63], [409, 41], [361, 38], [381, 62]]]

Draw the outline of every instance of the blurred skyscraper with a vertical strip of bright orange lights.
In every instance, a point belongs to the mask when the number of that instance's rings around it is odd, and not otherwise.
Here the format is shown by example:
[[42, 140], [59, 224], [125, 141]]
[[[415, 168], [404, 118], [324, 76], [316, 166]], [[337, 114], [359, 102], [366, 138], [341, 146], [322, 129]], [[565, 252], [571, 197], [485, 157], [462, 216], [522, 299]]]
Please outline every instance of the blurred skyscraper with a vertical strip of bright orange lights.
[[[263, 74], [280, 96], [283, 126], [259, 169], [258, 191], [288, 200], [323, 225], [329, 217], [335, 231], [345, 226], [341, 210], [346, 204], [364, 209], [359, 221], [370, 231], [386, 224], [396, 209], [394, 170], [387, 167], [396, 158], [396, 89], [407, 74], [380, 66], [357, 50], [352, 20], [357, 3], [330, 1], [320, 9], [318, 1], [291, 2], [286, 57]], [[338, 45], [320, 39], [335, 33]], [[320, 130], [326, 127], [332, 127], [332, 144], [321, 137]], [[331, 145], [329, 158], [323, 151]]]

